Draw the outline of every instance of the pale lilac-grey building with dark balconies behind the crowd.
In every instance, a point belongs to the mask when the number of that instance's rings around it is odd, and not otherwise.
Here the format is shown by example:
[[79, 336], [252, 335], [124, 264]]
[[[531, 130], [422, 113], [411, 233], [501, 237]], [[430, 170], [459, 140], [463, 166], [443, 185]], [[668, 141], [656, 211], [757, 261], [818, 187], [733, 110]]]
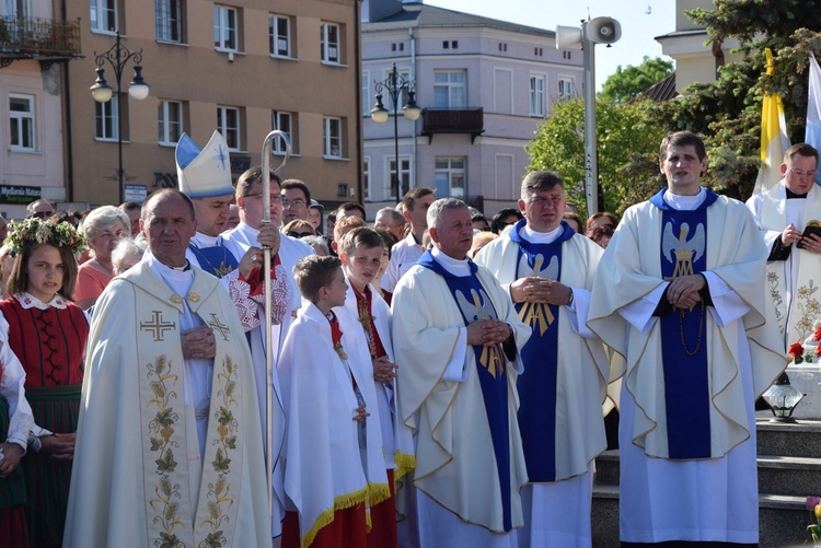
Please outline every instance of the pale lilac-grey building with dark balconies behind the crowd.
[[[555, 101], [582, 93], [582, 55], [556, 49], [555, 33], [421, 2], [362, 7], [363, 190], [369, 218], [401, 189], [426, 186], [487, 215], [516, 205], [530, 163], [524, 150]], [[375, 123], [375, 84], [392, 67], [413, 82], [421, 117]], [[398, 177], [395, 161], [398, 140]]]

